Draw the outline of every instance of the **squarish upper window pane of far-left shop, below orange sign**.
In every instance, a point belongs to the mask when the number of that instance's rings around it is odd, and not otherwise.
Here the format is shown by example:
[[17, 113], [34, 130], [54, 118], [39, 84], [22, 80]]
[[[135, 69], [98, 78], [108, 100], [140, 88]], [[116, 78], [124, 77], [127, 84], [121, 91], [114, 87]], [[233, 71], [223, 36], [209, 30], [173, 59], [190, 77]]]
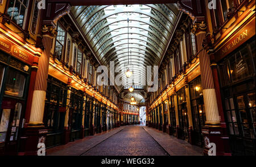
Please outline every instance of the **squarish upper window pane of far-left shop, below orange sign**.
[[5, 95], [23, 97], [26, 77], [10, 68], [8, 70]]

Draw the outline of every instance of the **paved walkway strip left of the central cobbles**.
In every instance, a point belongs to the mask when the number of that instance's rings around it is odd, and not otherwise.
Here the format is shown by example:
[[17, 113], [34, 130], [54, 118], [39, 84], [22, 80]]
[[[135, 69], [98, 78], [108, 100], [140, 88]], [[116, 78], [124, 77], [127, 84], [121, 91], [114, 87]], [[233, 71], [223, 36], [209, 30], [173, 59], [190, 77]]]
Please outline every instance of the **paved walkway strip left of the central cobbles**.
[[97, 144], [110, 138], [114, 134], [123, 130], [125, 126], [115, 128], [109, 132], [103, 134], [97, 134], [94, 136], [86, 136], [84, 139], [76, 140], [75, 142], [69, 142], [65, 145], [59, 145], [46, 150], [47, 156], [79, 156], [89, 149], [95, 147]]

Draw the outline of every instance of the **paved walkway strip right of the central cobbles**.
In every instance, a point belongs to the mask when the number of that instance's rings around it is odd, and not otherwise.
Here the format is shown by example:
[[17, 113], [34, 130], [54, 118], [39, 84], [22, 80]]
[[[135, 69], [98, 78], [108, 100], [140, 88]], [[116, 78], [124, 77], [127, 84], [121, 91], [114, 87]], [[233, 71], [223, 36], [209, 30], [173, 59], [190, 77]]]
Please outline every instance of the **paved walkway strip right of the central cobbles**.
[[184, 140], [170, 136], [167, 133], [143, 126], [148, 132], [171, 156], [203, 156], [203, 148], [191, 145]]

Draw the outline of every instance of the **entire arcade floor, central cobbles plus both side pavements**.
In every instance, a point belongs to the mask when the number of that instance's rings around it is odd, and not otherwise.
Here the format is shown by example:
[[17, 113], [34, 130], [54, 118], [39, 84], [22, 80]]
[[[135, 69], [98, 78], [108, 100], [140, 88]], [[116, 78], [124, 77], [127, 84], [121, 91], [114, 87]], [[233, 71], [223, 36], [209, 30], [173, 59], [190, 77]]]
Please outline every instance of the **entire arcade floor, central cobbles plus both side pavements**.
[[191, 156], [203, 149], [146, 126], [122, 126], [47, 149], [47, 155]]

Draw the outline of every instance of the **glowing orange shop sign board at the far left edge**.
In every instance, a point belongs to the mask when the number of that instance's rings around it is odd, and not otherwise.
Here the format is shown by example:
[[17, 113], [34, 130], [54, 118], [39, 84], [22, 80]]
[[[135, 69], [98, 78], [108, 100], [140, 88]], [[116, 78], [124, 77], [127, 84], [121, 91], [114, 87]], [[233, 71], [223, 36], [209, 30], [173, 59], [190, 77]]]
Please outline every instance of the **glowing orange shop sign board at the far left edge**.
[[26, 49], [22, 48], [22, 46], [18, 46], [6, 40], [6, 37], [2, 35], [0, 35], [0, 49], [6, 53], [14, 55], [14, 57], [20, 59], [23, 62], [29, 63], [30, 65], [32, 65], [34, 61], [33, 54], [28, 53]]

